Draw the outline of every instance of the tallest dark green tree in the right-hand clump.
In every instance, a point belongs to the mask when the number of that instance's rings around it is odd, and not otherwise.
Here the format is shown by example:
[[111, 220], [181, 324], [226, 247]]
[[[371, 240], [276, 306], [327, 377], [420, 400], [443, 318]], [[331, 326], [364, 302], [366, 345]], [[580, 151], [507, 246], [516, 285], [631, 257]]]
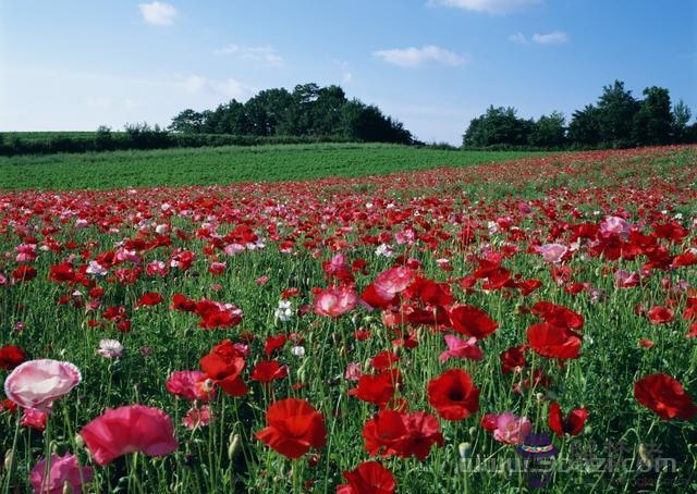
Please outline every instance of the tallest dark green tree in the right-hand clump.
[[597, 108], [600, 141], [612, 147], [633, 144], [633, 122], [639, 103], [631, 90], [624, 89], [624, 83], [615, 81], [610, 86], [603, 86]]

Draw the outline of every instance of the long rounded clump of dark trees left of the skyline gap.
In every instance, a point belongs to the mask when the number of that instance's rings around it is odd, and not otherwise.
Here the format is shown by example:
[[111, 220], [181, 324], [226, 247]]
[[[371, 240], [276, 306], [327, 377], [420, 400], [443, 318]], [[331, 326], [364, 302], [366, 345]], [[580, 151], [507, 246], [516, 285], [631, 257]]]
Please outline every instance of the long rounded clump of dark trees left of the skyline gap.
[[372, 104], [347, 99], [340, 86], [298, 84], [293, 91], [259, 91], [245, 103], [235, 99], [201, 112], [186, 109], [169, 129], [182, 134], [332, 137], [364, 143], [414, 144], [404, 125]]

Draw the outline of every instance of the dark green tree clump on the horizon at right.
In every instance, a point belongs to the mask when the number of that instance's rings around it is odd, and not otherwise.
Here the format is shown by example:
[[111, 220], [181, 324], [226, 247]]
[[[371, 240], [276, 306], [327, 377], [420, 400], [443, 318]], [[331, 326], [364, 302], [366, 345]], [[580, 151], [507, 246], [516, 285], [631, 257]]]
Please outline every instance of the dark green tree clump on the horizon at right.
[[603, 86], [595, 104], [572, 114], [566, 125], [554, 111], [538, 120], [522, 119], [512, 107], [494, 108], [469, 122], [463, 135], [464, 148], [627, 148], [697, 141], [697, 122], [689, 124], [692, 112], [680, 100], [672, 104], [663, 87], [644, 89], [636, 99], [615, 81]]

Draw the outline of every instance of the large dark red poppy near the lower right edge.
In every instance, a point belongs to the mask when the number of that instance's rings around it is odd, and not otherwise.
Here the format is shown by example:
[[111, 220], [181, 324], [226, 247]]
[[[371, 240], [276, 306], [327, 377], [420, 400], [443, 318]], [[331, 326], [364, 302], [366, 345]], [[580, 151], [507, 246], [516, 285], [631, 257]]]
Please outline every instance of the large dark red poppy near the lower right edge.
[[634, 397], [663, 420], [689, 420], [697, 416], [697, 407], [683, 385], [668, 374], [650, 374], [634, 383]]

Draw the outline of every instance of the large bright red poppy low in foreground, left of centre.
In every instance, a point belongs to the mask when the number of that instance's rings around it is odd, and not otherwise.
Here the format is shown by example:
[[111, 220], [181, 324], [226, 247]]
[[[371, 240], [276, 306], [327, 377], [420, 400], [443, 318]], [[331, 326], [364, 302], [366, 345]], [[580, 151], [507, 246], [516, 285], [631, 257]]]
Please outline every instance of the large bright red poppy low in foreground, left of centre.
[[299, 458], [310, 447], [320, 448], [327, 443], [322, 415], [304, 399], [274, 402], [266, 411], [266, 423], [255, 436], [286, 458]]

